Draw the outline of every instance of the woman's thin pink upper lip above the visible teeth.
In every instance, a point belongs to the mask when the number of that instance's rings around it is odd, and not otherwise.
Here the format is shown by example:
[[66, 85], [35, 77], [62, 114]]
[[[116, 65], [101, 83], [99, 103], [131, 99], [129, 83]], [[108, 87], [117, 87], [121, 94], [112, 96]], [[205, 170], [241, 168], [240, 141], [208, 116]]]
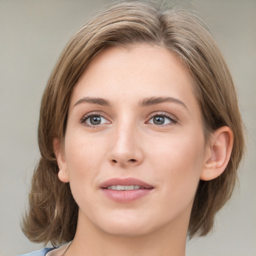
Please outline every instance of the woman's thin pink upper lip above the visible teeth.
[[153, 188], [152, 185], [137, 179], [137, 178], [132, 178], [132, 177], [128, 177], [128, 178], [110, 178], [104, 182], [102, 182], [100, 184], [100, 187], [102, 188], [106, 188], [108, 186], [112, 186], [112, 185], [124, 185], [124, 186], [130, 186], [130, 185], [139, 185], [139, 186], [143, 186], [144, 188]]

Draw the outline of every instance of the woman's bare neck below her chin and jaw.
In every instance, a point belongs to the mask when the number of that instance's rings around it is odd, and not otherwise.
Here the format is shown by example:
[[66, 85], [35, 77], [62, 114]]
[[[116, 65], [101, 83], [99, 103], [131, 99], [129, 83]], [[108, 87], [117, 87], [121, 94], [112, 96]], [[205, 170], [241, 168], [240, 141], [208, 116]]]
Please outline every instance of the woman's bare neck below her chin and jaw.
[[188, 221], [175, 221], [146, 234], [116, 236], [78, 217], [76, 234], [65, 256], [184, 256], [187, 226]]

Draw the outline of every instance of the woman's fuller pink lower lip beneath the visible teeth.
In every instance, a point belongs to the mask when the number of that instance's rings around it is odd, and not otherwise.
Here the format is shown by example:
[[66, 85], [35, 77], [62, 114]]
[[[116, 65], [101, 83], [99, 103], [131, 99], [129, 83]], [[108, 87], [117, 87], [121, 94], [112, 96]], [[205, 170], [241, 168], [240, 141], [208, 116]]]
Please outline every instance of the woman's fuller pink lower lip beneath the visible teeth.
[[132, 202], [152, 191], [152, 188], [134, 189], [134, 190], [114, 190], [102, 188], [104, 195], [116, 202]]

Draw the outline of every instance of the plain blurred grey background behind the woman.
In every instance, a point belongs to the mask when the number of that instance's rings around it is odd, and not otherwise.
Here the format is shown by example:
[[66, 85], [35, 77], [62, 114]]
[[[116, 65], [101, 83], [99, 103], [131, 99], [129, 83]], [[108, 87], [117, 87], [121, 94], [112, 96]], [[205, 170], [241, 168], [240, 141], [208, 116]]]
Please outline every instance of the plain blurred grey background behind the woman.
[[[168, 2], [166, 0], [166, 2]], [[226, 57], [248, 132], [240, 185], [214, 233], [187, 243], [189, 256], [256, 255], [256, 0], [192, 0]], [[108, 0], [0, 0], [0, 255], [39, 249], [19, 228], [38, 159], [40, 98], [62, 48]]]

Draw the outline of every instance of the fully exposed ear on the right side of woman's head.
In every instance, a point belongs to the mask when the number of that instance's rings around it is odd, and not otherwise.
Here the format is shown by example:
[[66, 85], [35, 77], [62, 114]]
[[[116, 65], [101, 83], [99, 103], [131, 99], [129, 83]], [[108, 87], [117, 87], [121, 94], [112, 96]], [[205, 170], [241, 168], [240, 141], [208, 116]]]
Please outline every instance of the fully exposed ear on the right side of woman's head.
[[200, 179], [211, 180], [218, 177], [226, 168], [233, 147], [233, 132], [227, 126], [214, 131], [208, 145], [210, 153], [206, 156]]

